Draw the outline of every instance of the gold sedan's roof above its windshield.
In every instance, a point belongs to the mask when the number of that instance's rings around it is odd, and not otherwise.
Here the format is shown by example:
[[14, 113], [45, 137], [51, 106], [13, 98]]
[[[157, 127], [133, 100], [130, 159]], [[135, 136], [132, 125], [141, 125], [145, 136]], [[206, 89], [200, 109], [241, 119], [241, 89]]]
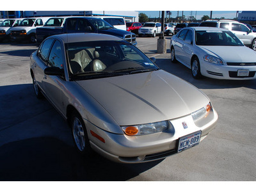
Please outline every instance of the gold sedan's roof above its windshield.
[[61, 40], [64, 44], [74, 42], [92, 42], [92, 41], [122, 41], [122, 38], [118, 38], [112, 35], [98, 34], [98, 33], [65, 33], [61, 35], [53, 35], [49, 38], [56, 38]]

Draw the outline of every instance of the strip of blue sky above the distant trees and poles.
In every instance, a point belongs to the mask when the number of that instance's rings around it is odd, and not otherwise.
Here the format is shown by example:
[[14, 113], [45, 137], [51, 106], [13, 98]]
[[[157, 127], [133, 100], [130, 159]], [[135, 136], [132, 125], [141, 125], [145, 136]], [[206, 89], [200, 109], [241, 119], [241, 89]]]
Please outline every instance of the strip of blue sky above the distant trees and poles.
[[[138, 11], [139, 13], [145, 13], [148, 17], [159, 17], [159, 11]], [[171, 17], [177, 17], [177, 11], [172, 12]], [[236, 18], [237, 11], [212, 11], [212, 19], [225, 17], [225, 19], [234, 19]], [[240, 13], [240, 12], [239, 12]], [[162, 13], [161, 13], [162, 14]], [[164, 12], [166, 17], [166, 12]], [[179, 11], [179, 16], [182, 15], [182, 11]], [[190, 16], [191, 11], [184, 11], [183, 15]], [[201, 19], [204, 15], [208, 15], [210, 17], [211, 11], [192, 11], [192, 16], [196, 17], [196, 19]], [[161, 15], [160, 15], [161, 17]]]

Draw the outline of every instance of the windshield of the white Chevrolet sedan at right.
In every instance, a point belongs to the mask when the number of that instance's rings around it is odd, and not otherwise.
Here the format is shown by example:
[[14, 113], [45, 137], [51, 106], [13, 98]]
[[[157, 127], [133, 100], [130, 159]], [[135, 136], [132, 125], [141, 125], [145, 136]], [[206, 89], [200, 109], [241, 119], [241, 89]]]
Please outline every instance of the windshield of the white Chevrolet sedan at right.
[[196, 45], [243, 46], [230, 31], [196, 31]]

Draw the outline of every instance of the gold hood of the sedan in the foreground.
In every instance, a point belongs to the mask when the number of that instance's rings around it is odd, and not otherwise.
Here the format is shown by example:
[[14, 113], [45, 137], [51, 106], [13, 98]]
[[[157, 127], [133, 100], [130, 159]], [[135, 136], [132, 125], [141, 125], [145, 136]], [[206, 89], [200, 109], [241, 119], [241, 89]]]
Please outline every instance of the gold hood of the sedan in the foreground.
[[163, 70], [77, 81], [119, 125], [137, 125], [186, 116], [209, 99]]

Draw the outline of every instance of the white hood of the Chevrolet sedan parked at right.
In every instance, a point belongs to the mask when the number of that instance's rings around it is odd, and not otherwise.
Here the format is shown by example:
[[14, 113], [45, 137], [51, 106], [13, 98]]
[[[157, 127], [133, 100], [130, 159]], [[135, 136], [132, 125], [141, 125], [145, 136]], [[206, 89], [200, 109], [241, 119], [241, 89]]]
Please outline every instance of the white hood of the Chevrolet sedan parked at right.
[[224, 62], [255, 62], [256, 51], [246, 46], [199, 46], [207, 54], [218, 56]]

